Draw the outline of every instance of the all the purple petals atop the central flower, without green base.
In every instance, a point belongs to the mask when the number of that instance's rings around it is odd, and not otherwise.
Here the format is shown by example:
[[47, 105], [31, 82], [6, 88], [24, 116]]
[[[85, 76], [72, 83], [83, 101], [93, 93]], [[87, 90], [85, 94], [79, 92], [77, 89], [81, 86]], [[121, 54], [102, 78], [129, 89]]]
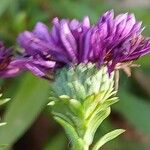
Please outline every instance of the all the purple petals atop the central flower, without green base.
[[51, 30], [39, 22], [32, 32], [19, 35], [24, 52], [11, 64], [45, 78], [64, 65], [89, 62], [105, 65], [111, 73], [119, 64], [150, 53], [150, 40], [142, 36], [142, 30], [142, 23], [128, 13], [114, 17], [108, 11], [92, 26], [88, 17], [81, 22], [54, 18]]

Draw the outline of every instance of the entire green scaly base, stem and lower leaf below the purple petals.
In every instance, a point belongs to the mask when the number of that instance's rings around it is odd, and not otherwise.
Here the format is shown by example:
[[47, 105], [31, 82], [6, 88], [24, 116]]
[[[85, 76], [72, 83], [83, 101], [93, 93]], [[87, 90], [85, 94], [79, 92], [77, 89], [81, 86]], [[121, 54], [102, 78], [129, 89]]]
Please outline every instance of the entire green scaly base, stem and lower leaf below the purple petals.
[[[80, 64], [57, 72], [52, 84], [52, 113], [65, 129], [73, 150], [88, 150], [97, 128], [110, 114], [115, 97], [114, 74], [107, 67], [98, 69], [93, 64]], [[124, 130], [107, 133], [93, 146], [98, 150]]]

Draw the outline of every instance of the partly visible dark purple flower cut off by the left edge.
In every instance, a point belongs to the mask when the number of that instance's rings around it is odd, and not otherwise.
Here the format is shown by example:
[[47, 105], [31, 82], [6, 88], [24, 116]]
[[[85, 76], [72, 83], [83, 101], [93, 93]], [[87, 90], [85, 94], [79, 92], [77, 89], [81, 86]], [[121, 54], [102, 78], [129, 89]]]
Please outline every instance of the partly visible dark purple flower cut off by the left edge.
[[0, 77], [12, 77], [20, 72], [20, 69], [11, 65], [11, 62], [13, 62], [11, 49], [5, 48], [0, 42]]

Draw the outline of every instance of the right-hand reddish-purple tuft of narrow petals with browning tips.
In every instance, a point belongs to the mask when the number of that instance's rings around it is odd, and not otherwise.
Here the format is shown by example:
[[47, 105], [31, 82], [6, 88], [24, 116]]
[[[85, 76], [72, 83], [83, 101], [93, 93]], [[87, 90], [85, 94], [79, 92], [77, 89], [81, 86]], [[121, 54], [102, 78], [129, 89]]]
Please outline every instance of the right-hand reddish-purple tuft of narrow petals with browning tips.
[[106, 12], [98, 21], [91, 35], [94, 59], [107, 64], [113, 71], [116, 64], [135, 60], [150, 53], [150, 41], [141, 35], [141, 22], [133, 14], [114, 17], [113, 11]]

